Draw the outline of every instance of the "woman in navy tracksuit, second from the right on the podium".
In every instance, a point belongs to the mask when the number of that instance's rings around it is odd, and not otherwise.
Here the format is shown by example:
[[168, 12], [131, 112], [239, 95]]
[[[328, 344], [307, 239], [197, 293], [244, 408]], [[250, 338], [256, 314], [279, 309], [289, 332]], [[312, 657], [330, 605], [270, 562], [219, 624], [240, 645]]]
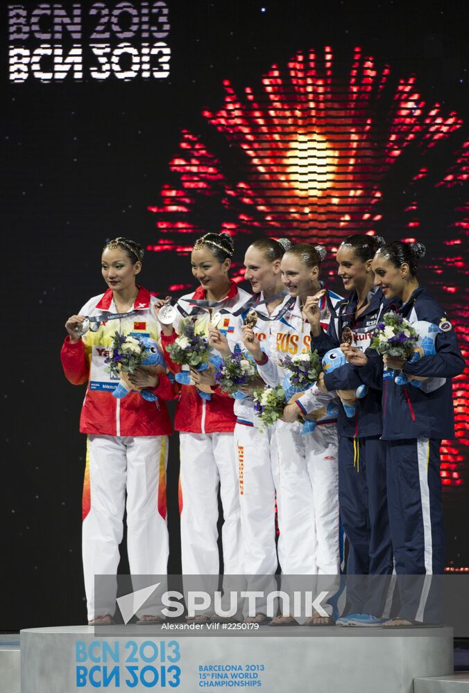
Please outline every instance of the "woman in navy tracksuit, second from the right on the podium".
[[[312, 349], [323, 356], [339, 347], [344, 328], [350, 328], [353, 346], [364, 352], [380, 321], [386, 301], [373, 286], [371, 262], [384, 243], [380, 237], [348, 236], [336, 255], [338, 274], [350, 293], [335, 307], [327, 333], [316, 320], [312, 324]], [[313, 316], [309, 318], [311, 323]], [[373, 353], [373, 352], [372, 352]], [[343, 365], [325, 373], [328, 390], [355, 389], [361, 385], [361, 369]], [[355, 416], [339, 411], [339, 507], [343, 530], [348, 538], [347, 575], [390, 574], [393, 569], [391, 536], [386, 504], [386, 450], [380, 440], [381, 383], [357, 400]], [[301, 398], [300, 398], [301, 403]], [[386, 581], [348, 578], [348, 616], [339, 625], [379, 625], [386, 597]]]

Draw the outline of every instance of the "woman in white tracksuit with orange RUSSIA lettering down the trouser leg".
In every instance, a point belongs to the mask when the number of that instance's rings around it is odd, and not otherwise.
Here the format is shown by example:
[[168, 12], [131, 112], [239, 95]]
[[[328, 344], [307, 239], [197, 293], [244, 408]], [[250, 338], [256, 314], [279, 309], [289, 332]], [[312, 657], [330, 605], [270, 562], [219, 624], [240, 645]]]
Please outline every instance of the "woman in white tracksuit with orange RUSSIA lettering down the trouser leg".
[[[255, 295], [252, 310], [257, 322], [252, 331], [264, 351], [271, 346], [271, 330], [275, 315], [281, 313], [289, 300], [280, 275], [280, 261], [290, 246], [287, 239], [259, 238], [252, 243], [244, 257], [244, 277]], [[241, 344], [241, 347], [244, 347]], [[277, 446], [275, 426], [259, 431], [259, 419], [254, 413], [253, 399], [235, 401], [235, 455], [239, 475], [239, 502], [244, 543], [244, 572], [248, 590], [264, 595], [276, 590], [277, 550], [275, 546], [275, 479]], [[245, 622], [262, 623], [266, 617], [266, 599], [257, 597], [255, 614], [244, 605]]]

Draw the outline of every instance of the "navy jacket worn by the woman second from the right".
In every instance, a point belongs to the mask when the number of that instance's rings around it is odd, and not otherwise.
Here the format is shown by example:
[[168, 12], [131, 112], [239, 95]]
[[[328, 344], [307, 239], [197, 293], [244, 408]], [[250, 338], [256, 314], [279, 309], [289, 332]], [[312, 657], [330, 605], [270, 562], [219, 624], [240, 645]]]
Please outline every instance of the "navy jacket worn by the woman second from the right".
[[327, 333], [323, 331], [311, 340], [311, 348], [317, 349], [322, 358], [326, 351], [339, 347], [342, 342], [343, 328], [350, 327], [354, 334], [353, 346], [360, 347], [370, 358], [363, 374], [365, 378], [362, 378], [363, 369], [350, 363], [332, 373], [325, 373], [324, 376], [325, 386], [329, 390], [356, 389], [362, 383], [369, 386], [368, 394], [357, 400], [357, 410], [352, 419], [349, 419], [343, 407], [340, 407], [337, 431], [339, 435], [349, 438], [382, 434], [382, 358], [376, 351], [367, 347], [383, 312], [396, 309], [395, 306], [389, 306], [389, 301], [384, 299], [381, 289], [373, 288], [368, 294], [368, 307], [355, 320], [357, 301], [357, 292], [352, 291], [346, 299], [335, 306], [335, 315], [331, 317]]

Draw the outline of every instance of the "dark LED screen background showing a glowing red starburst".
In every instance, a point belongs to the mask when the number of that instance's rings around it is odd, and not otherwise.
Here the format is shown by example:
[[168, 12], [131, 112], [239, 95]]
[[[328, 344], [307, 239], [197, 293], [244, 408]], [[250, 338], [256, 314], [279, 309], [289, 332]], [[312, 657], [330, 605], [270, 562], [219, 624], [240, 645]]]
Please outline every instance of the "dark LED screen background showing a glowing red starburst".
[[[34, 8], [37, 3], [22, 3]], [[62, 3], [69, 8], [69, 3]], [[84, 4], [84, 3], [83, 3]], [[112, 7], [116, 3], [108, 3]], [[141, 3], [134, 3], [139, 6]], [[8, 80], [3, 15], [3, 460], [6, 575], [26, 599], [3, 627], [83, 621], [83, 390], [63, 378], [63, 324], [102, 288], [106, 238], [148, 249], [142, 283], [194, 286], [189, 249], [235, 236], [334, 248], [355, 232], [417, 238], [421, 279], [467, 325], [467, 17], [461, 3], [167, 3], [169, 76]], [[139, 46], [138, 41], [135, 45]], [[447, 565], [469, 566], [467, 380], [445, 442]], [[178, 572], [177, 441], [169, 469]], [[125, 564], [123, 563], [123, 567]], [[13, 587], [15, 586], [15, 587]]]

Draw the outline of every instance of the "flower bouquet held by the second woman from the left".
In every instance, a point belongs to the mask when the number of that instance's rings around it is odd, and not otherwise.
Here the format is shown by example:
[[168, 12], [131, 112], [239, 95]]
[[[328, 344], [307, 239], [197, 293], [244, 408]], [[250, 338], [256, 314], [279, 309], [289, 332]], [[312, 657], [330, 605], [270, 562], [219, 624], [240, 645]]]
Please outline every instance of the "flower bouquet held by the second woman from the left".
[[[207, 337], [196, 333], [196, 326], [192, 320], [182, 320], [181, 332], [173, 344], [167, 347], [169, 356], [174, 363], [182, 365], [182, 371], [174, 376], [176, 383], [180, 385], [191, 385], [189, 367], [196, 371], [205, 371], [210, 360], [210, 346]], [[208, 392], [197, 389], [198, 394], [209, 400], [212, 396]]]

